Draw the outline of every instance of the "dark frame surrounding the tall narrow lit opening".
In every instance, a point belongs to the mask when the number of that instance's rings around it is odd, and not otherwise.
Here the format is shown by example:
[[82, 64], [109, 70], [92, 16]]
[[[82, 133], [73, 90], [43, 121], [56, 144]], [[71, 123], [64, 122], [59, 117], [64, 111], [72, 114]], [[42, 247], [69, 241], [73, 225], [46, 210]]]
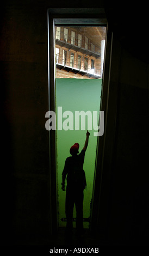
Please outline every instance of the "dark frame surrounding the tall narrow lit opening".
[[[55, 112], [55, 59], [54, 59], [54, 26], [55, 25], [67, 25], [67, 26], [106, 26], [107, 35], [105, 40], [105, 53], [104, 53], [104, 67], [103, 67], [103, 82], [102, 82], [102, 96], [101, 96], [101, 111], [104, 111], [104, 135], [98, 137], [97, 150], [96, 150], [96, 164], [95, 164], [95, 176], [94, 176], [94, 189], [93, 200], [91, 208], [91, 229], [96, 229], [100, 225], [98, 216], [100, 215], [100, 198], [102, 192], [102, 180], [104, 161], [109, 162], [110, 175], [110, 163], [112, 157], [112, 150], [114, 145], [115, 136], [115, 120], [116, 116], [116, 103], [113, 106], [111, 102], [110, 92], [110, 79], [111, 79], [111, 56], [113, 45], [113, 33], [108, 28], [108, 22], [105, 17], [104, 9], [100, 8], [61, 8], [61, 9], [48, 9], [48, 92], [49, 92], [49, 110]], [[116, 78], [117, 79], [117, 78]], [[117, 80], [116, 80], [117, 81]], [[114, 99], [116, 102], [117, 87], [115, 87]], [[110, 101], [109, 101], [110, 99]], [[113, 110], [112, 116], [109, 118], [108, 109], [111, 107]], [[109, 128], [108, 124], [113, 129], [111, 134], [111, 142], [108, 142]], [[57, 204], [57, 173], [56, 173], [56, 136], [55, 131], [49, 131], [49, 162], [50, 162], [50, 224], [51, 234], [55, 233], [58, 229], [58, 204]], [[108, 154], [105, 152], [109, 147]], [[105, 195], [105, 205], [108, 204], [109, 198], [109, 179], [104, 182], [104, 190], [107, 191]], [[106, 211], [105, 208], [104, 211]], [[104, 212], [103, 211], [103, 212]], [[103, 225], [107, 225], [107, 219], [103, 222]]]

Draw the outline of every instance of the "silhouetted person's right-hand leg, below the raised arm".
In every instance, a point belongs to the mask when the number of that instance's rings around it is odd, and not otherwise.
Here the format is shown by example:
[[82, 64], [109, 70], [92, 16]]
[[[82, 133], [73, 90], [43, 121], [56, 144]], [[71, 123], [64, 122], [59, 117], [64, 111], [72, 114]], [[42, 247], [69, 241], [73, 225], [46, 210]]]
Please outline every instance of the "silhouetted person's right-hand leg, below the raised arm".
[[76, 214], [77, 214], [77, 221], [76, 221], [76, 229], [78, 233], [83, 231], [83, 190], [76, 192], [75, 197], [75, 204], [76, 204]]

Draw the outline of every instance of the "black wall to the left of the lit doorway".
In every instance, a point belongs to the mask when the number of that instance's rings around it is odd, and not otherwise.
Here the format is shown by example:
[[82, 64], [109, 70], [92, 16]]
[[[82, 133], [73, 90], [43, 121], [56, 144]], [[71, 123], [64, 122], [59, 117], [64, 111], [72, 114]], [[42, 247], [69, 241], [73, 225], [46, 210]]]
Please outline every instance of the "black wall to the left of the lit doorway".
[[47, 10], [32, 1], [6, 1], [3, 8], [1, 221], [8, 242], [11, 231], [42, 235], [50, 228]]

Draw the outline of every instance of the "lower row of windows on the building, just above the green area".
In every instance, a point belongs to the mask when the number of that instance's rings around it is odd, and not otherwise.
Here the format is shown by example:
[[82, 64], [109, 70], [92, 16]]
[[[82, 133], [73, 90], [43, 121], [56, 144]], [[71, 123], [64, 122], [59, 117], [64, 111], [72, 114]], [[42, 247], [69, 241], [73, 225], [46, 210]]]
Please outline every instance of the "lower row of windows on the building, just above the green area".
[[[67, 58], [67, 51], [63, 50], [63, 56], [60, 56], [59, 54], [59, 48], [55, 48], [55, 56], [56, 56], [56, 63], [62, 63], [63, 65], [69, 65], [71, 67], [74, 67], [74, 53], [70, 53], [70, 58], [68, 60]], [[77, 69], [82, 69], [82, 70], [90, 70], [90, 72], [94, 72], [95, 70], [95, 60], [91, 59], [90, 60], [90, 69], [88, 68], [89, 63], [88, 63], [88, 58], [77, 55], [77, 63], [75, 63], [75, 66]]]

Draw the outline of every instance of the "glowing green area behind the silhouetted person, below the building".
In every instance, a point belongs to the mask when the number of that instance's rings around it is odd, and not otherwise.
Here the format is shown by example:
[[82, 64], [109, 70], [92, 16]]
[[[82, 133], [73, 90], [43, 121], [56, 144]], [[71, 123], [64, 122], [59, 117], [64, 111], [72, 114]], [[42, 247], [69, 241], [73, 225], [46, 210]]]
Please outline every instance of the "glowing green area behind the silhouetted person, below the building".
[[[101, 79], [77, 79], [77, 78], [56, 78], [56, 109], [62, 107], [63, 113], [71, 111], [73, 116], [75, 111], [100, 111], [101, 101]], [[62, 119], [63, 121], [66, 118]], [[57, 114], [58, 121], [58, 114]], [[69, 125], [69, 124], [68, 124]], [[75, 119], [73, 120], [75, 128]], [[78, 142], [79, 152], [84, 147], [86, 138], [87, 122], [85, 130], [57, 130], [57, 181], [58, 181], [58, 205], [59, 205], [59, 227], [65, 227], [66, 222], [61, 218], [65, 216], [65, 196], [66, 191], [61, 190], [61, 173], [63, 172], [66, 157], [70, 155], [70, 147]], [[90, 216], [90, 202], [92, 198], [92, 186], [94, 182], [95, 156], [97, 137], [94, 136], [94, 129], [90, 130], [89, 145], [85, 153], [84, 170], [86, 175], [87, 188], [84, 190], [83, 217]], [[77, 190], [77, 188], [76, 188]], [[76, 217], [74, 206], [73, 217]], [[76, 225], [73, 223], [73, 227]], [[84, 222], [84, 227], [88, 228], [89, 223]]]

